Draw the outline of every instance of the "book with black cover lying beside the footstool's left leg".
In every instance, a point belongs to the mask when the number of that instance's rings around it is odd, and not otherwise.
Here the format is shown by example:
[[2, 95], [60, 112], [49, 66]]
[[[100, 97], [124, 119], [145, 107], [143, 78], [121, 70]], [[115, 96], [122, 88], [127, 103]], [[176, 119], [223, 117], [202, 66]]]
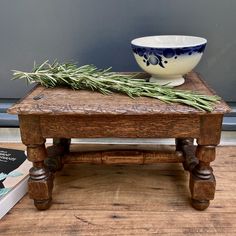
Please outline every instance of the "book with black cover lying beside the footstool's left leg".
[[0, 219], [27, 193], [31, 166], [24, 151], [0, 148]]

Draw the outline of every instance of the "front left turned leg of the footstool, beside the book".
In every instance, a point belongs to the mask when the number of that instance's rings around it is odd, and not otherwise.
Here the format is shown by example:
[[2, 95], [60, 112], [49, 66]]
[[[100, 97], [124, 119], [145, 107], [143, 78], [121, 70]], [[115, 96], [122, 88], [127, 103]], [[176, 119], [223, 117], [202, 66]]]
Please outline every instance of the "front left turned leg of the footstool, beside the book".
[[22, 142], [27, 146], [27, 157], [33, 163], [30, 169], [28, 192], [37, 209], [48, 209], [52, 201], [53, 175], [45, 166], [47, 158], [45, 138], [41, 135], [40, 117], [20, 115]]

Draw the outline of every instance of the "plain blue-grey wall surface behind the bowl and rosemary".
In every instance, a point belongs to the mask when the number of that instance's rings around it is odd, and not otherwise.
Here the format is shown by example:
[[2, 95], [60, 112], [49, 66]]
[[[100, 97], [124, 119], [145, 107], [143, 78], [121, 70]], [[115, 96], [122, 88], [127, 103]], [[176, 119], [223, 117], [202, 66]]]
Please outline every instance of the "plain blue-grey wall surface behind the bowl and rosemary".
[[208, 39], [196, 68], [226, 101], [236, 101], [235, 0], [1, 0], [0, 98], [29, 89], [13, 69], [46, 59], [137, 71], [133, 38], [185, 34]]

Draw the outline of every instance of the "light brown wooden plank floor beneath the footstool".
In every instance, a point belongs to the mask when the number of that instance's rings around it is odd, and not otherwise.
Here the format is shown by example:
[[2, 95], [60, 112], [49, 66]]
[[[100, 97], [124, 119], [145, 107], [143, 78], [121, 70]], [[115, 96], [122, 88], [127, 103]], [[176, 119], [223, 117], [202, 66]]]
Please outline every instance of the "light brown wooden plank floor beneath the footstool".
[[215, 200], [199, 212], [180, 164], [66, 165], [50, 210], [25, 196], [0, 221], [0, 235], [236, 235], [236, 146], [218, 147], [212, 166]]

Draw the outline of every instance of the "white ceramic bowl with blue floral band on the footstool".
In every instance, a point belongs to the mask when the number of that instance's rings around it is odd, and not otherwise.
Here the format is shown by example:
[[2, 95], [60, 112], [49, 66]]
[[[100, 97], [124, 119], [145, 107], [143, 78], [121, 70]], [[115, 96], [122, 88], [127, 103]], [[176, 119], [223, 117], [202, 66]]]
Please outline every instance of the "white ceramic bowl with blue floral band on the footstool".
[[151, 74], [151, 82], [179, 86], [184, 75], [198, 64], [207, 40], [194, 36], [160, 35], [131, 41], [138, 65]]

